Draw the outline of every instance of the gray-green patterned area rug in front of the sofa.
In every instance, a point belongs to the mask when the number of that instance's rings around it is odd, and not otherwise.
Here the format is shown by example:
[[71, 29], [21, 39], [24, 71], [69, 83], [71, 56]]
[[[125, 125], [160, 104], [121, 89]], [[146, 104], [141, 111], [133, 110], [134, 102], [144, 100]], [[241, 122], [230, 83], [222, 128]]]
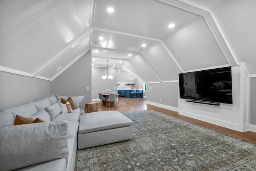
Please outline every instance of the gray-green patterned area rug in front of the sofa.
[[256, 144], [148, 110], [132, 139], [77, 151], [77, 171], [256, 171]]

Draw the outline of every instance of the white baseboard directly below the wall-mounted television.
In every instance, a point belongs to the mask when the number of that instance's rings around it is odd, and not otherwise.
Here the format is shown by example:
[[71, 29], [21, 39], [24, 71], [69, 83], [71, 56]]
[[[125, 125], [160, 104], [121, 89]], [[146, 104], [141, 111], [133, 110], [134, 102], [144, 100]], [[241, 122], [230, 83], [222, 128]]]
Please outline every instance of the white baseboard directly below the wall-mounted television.
[[205, 121], [205, 122], [208, 122], [208, 123], [212, 123], [214, 125], [219, 125], [219, 126], [222, 126], [222, 127], [226, 127], [226, 128], [229, 128], [229, 129], [234, 129], [236, 131], [239, 131], [239, 125], [238, 124], [231, 123], [231, 122], [228, 122], [228, 121], [214, 119], [212, 117], [206, 117], [206, 116], [198, 115], [198, 114], [195, 114], [195, 113], [190, 113], [190, 112], [187, 112], [187, 111], [181, 111], [181, 110], [179, 111], [179, 114], [187, 116], [187, 117], [192, 117], [192, 118], [198, 119], [200, 121]]

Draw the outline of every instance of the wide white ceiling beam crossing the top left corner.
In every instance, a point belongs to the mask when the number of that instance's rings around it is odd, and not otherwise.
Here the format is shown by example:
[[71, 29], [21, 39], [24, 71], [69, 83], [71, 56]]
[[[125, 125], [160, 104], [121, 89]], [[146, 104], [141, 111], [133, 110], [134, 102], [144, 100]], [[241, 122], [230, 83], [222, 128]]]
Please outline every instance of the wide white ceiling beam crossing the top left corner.
[[0, 44], [16, 36], [69, 0], [44, 0], [0, 27]]

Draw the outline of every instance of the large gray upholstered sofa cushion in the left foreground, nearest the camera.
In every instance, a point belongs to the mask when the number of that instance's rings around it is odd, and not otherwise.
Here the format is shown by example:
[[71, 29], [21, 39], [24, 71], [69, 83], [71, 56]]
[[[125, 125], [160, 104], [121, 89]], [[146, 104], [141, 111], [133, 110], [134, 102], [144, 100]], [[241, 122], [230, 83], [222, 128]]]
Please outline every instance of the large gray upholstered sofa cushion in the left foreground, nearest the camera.
[[68, 161], [66, 121], [0, 128], [0, 168], [15, 170], [55, 159]]

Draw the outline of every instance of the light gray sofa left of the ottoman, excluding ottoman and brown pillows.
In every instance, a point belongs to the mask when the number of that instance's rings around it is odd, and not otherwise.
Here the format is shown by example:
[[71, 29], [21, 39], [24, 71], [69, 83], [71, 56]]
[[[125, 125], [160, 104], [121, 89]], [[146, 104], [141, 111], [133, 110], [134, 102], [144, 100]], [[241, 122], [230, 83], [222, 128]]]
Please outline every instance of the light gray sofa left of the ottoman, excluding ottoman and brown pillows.
[[[72, 113], [61, 113], [61, 98], [68, 97], [51, 95], [0, 111], [0, 170], [74, 171], [84, 96], [72, 97]], [[46, 122], [13, 126], [16, 115]]]

